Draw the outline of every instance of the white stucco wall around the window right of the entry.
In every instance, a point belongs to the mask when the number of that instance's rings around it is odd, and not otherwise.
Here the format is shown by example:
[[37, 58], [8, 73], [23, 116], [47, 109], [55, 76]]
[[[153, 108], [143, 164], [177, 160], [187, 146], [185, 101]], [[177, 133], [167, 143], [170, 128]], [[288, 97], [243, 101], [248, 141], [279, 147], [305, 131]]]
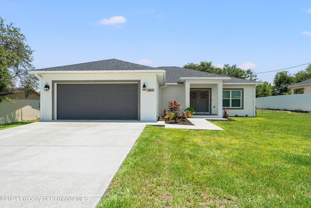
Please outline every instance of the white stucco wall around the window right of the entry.
[[223, 85], [223, 89], [243, 89], [243, 109], [233, 109], [226, 108], [229, 116], [234, 117], [238, 116], [246, 116], [255, 117], [255, 97], [256, 97], [256, 88], [254, 85], [233, 85], [227, 84]]

